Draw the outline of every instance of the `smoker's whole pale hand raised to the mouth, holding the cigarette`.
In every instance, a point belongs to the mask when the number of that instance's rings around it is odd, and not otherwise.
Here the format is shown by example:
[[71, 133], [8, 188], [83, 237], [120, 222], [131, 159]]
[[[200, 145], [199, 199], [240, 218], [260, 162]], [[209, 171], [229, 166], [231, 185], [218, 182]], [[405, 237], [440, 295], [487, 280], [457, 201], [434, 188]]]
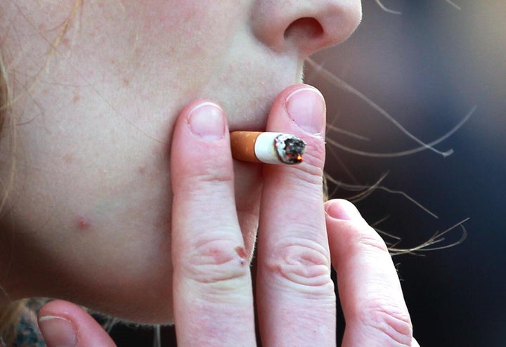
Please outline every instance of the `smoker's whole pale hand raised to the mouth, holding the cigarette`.
[[[221, 120], [216, 105], [192, 103], [181, 112], [172, 140], [178, 345], [256, 346], [255, 304], [264, 346], [335, 346], [332, 261], [346, 319], [343, 346], [417, 346], [384, 242], [349, 202], [323, 204], [325, 107], [309, 86], [281, 92], [268, 117], [267, 131], [303, 138], [307, 152], [300, 165], [264, 167], [254, 303]], [[77, 306], [53, 301], [39, 317], [48, 315], [71, 322], [77, 346], [114, 345]], [[41, 331], [52, 347], [65, 329], [50, 331], [43, 321]]]

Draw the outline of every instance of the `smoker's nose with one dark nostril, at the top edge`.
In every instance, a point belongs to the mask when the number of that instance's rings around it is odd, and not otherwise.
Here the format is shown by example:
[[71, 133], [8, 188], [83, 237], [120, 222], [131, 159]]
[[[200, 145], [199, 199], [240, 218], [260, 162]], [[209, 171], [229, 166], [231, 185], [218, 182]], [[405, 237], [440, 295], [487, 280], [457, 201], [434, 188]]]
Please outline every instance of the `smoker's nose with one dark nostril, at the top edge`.
[[307, 58], [344, 41], [361, 18], [360, 0], [258, 0], [252, 30], [274, 51], [297, 50]]

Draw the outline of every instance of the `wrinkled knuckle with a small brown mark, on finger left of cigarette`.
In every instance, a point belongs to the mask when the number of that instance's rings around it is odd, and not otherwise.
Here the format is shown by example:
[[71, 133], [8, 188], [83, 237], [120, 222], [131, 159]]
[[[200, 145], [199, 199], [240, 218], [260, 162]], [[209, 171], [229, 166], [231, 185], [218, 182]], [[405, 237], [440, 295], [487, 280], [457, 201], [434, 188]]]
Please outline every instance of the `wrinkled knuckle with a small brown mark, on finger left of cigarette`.
[[[226, 240], [206, 240], [188, 251], [179, 266], [186, 277], [216, 289], [235, 289], [249, 277], [249, 261], [242, 246]], [[237, 283], [235, 283], [237, 282]]]

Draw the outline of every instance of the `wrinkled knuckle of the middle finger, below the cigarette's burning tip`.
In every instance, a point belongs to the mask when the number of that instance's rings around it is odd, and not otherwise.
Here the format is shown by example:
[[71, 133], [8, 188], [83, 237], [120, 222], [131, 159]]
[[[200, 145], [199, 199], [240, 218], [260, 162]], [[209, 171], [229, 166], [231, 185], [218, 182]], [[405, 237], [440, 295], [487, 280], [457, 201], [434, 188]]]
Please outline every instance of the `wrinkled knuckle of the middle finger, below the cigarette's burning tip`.
[[295, 284], [311, 293], [333, 291], [327, 251], [316, 242], [279, 247], [268, 257], [266, 270], [274, 278], [278, 277], [289, 285]]

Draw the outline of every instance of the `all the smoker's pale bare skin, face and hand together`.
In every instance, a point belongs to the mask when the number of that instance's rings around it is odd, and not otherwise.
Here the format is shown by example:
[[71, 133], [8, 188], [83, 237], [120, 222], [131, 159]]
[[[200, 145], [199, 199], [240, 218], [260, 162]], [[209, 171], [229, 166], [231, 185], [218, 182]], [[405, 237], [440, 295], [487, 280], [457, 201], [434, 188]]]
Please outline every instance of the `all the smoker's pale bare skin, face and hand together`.
[[[300, 84], [304, 58], [353, 32], [360, 1], [73, 6], [0, 5], [20, 96], [19, 145], [0, 143], [2, 181], [18, 167], [2, 300], [175, 323], [180, 346], [254, 346], [256, 304], [264, 346], [334, 346], [332, 265], [343, 346], [417, 346], [384, 242], [349, 202], [323, 203], [325, 102]], [[293, 133], [304, 162], [237, 162], [233, 130]], [[48, 346], [114, 345], [68, 301], [39, 314]]]

